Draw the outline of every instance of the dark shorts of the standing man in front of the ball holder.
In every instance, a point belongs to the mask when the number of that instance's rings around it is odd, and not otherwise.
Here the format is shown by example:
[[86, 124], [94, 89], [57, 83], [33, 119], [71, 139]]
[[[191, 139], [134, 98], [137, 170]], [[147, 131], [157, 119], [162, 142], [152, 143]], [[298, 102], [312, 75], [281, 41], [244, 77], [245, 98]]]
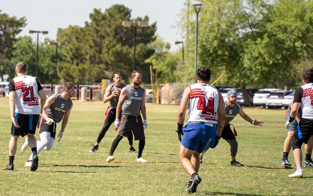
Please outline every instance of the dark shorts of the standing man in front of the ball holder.
[[128, 134], [131, 130], [133, 131], [135, 140], [146, 139], [141, 115], [128, 116], [126, 114], [122, 114], [120, 131], [118, 132], [118, 135], [128, 137]]

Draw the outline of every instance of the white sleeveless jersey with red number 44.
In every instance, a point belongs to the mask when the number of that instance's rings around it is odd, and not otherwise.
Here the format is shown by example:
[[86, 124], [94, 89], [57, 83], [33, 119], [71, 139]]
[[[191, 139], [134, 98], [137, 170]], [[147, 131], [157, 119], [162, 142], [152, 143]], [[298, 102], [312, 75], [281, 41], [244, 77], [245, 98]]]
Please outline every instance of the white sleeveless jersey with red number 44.
[[190, 87], [188, 122], [213, 126], [217, 124], [218, 90], [206, 83], [195, 83]]

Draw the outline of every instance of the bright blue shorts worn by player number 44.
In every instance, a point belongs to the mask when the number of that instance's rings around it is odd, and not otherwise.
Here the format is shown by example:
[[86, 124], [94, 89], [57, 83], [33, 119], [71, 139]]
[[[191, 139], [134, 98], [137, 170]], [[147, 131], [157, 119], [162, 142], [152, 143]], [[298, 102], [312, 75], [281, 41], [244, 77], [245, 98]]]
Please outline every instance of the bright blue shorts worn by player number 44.
[[188, 123], [182, 128], [185, 132], [182, 136], [182, 146], [185, 148], [202, 153], [211, 140], [213, 127], [205, 125], [206, 143], [202, 143], [201, 125], [199, 123]]

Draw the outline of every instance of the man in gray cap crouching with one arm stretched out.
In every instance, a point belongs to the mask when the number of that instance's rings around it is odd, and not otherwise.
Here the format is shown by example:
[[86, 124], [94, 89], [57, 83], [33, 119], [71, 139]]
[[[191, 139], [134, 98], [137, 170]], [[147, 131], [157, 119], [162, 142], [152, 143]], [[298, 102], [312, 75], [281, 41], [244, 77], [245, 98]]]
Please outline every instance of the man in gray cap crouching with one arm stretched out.
[[[222, 131], [222, 134], [219, 138], [223, 138], [226, 140], [230, 145], [230, 165], [233, 166], [244, 166], [243, 164], [236, 161], [236, 154], [238, 151], [238, 143], [236, 140], [237, 133], [234, 132], [236, 135], [234, 135], [233, 131], [230, 128], [230, 121], [232, 121], [237, 114], [241, 116], [241, 118], [245, 119], [249, 123], [253, 125], [260, 125], [263, 124], [263, 120], [252, 120], [246, 113], [244, 113], [244, 110], [236, 103], [237, 101], [237, 93], [234, 90], [230, 90], [227, 92], [227, 101], [225, 102], [225, 110], [226, 110], [226, 120], [224, 124], [224, 129]], [[209, 149], [209, 145], [205, 148], [203, 153], [200, 154], [200, 163], [202, 163], [203, 155], [204, 153]]]

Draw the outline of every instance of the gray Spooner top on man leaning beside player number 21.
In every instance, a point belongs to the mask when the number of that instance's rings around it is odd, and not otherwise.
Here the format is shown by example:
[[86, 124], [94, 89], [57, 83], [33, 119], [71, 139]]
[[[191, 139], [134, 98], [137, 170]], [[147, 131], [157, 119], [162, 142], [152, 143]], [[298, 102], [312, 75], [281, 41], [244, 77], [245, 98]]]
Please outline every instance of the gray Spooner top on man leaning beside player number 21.
[[63, 119], [64, 114], [71, 108], [73, 102], [71, 98], [64, 100], [62, 98], [62, 93], [53, 95], [55, 96], [54, 103], [52, 103], [45, 111], [49, 118], [53, 119], [54, 122], [59, 123]]

